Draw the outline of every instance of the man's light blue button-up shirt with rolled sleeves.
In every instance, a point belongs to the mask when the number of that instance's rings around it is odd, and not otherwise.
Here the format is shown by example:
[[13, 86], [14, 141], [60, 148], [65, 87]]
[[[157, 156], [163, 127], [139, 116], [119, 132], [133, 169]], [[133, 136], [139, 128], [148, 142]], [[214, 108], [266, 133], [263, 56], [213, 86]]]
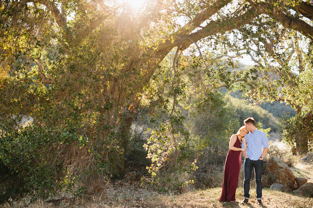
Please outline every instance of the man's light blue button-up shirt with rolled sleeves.
[[[247, 156], [250, 160], [259, 160], [262, 156], [263, 148], [269, 148], [269, 140], [266, 133], [255, 129], [253, 134], [249, 132], [245, 137], [248, 146]], [[244, 142], [242, 142], [241, 146], [244, 147]]]

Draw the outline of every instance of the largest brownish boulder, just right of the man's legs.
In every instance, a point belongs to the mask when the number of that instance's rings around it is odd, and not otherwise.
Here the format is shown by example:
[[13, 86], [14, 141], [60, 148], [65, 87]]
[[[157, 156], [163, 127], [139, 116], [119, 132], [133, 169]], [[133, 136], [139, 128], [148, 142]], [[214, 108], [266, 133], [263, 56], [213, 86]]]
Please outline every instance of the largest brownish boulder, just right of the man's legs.
[[278, 183], [292, 189], [295, 176], [289, 167], [279, 157], [270, 157], [266, 163], [267, 178], [269, 183]]

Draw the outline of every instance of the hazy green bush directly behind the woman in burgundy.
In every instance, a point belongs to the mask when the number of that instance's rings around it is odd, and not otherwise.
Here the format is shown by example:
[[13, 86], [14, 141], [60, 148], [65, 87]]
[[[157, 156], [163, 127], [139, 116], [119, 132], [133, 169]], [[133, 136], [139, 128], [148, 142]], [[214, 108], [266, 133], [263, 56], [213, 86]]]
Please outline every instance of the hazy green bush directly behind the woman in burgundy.
[[194, 102], [188, 120], [198, 166], [193, 176], [207, 187], [218, 186], [213, 178], [223, 169], [230, 136], [238, 131], [239, 122], [233, 115], [234, 108], [220, 92], [207, 92]]

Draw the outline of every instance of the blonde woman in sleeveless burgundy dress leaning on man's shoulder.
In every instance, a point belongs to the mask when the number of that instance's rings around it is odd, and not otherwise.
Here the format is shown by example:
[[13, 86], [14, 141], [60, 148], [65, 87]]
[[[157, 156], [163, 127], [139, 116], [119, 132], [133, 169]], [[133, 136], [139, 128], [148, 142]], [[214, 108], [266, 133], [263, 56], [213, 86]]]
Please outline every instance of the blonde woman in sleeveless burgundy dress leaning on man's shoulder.
[[245, 126], [241, 126], [237, 134], [233, 134], [230, 137], [229, 151], [224, 167], [222, 196], [218, 201], [237, 202], [235, 195], [241, 167], [241, 151], [246, 151], [244, 147], [241, 148], [241, 141], [247, 133]]

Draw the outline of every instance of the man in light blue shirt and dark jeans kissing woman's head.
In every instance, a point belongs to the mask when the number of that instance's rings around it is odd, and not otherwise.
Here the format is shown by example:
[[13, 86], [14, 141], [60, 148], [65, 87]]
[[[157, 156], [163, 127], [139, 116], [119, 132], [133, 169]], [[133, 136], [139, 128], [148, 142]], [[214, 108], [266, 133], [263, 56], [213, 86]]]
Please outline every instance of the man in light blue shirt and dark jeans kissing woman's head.
[[[255, 121], [252, 117], [244, 120], [244, 125], [249, 132], [246, 137], [247, 151], [242, 151], [246, 158], [244, 161], [244, 200], [242, 204], [247, 204], [249, 201], [250, 180], [252, 170], [255, 173], [256, 183], [256, 198], [259, 206], [262, 204], [262, 173], [263, 173], [263, 158], [269, 149], [269, 142], [264, 131], [259, 131], [255, 128]], [[244, 143], [244, 142], [242, 142]], [[242, 144], [243, 146], [244, 144]], [[264, 148], [262, 151], [262, 147]]]

